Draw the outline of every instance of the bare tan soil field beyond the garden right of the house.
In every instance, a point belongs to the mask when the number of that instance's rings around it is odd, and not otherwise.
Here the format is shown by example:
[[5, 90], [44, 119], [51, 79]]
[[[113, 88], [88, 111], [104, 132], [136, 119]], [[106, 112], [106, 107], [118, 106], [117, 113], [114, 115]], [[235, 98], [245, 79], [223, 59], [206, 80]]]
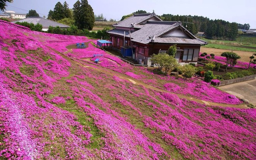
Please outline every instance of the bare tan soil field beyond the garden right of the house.
[[[220, 56], [223, 52], [231, 52], [231, 50], [227, 49], [215, 49], [215, 48], [206, 48], [201, 47], [200, 52], [206, 52], [208, 54], [214, 53], [215, 56]], [[246, 52], [246, 51], [233, 51], [238, 54], [241, 58], [238, 61], [249, 62], [249, 57], [253, 55], [254, 52]]]

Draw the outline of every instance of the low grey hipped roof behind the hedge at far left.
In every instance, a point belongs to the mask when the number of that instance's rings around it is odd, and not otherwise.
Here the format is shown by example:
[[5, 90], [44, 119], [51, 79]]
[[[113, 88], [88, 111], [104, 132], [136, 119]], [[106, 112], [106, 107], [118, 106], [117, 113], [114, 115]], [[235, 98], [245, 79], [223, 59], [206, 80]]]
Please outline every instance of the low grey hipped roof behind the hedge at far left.
[[68, 28], [69, 27], [68, 25], [60, 24], [58, 22], [54, 22], [52, 20], [44, 19], [44, 18], [41, 18], [41, 17], [26, 18], [26, 19], [14, 21], [13, 23], [15, 23], [15, 22], [28, 22], [28, 23], [33, 23], [35, 25], [36, 24], [41, 24], [43, 27], [49, 27], [49, 26], [52, 26], [52, 27], [59, 26], [61, 28]]

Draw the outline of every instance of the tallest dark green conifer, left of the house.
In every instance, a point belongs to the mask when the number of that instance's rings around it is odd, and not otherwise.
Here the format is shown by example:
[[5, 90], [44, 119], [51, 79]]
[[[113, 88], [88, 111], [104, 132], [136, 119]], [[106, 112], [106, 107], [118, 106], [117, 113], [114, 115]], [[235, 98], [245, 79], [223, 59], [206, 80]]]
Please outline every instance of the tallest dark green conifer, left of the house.
[[73, 8], [74, 12], [74, 20], [78, 29], [88, 29], [92, 30], [94, 26], [94, 13], [92, 7], [88, 4], [87, 0], [78, 0], [74, 4]]

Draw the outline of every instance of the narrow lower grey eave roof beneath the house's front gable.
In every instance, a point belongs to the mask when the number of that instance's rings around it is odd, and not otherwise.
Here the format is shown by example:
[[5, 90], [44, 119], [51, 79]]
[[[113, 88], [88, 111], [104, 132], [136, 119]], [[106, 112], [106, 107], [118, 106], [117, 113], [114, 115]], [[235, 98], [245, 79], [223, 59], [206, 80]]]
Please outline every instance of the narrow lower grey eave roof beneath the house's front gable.
[[171, 43], [171, 44], [207, 44], [201, 39], [192, 39], [190, 37], [156, 37], [156, 43]]

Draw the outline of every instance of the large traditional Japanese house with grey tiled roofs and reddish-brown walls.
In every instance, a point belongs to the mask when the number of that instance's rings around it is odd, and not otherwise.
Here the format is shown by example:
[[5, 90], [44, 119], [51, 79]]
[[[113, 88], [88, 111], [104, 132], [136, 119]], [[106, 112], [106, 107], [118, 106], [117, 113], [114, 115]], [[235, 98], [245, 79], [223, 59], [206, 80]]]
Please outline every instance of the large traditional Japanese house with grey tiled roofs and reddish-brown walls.
[[156, 14], [135, 14], [109, 30], [112, 48], [121, 51], [121, 47], [133, 48], [132, 58], [144, 60], [151, 65], [150, 56], [161, 52], [168, 53], [171, 45], [176, 44], [176, 60], [181, 63], [197, 63], [201, 45], [208, 44], [191, 34], [181, 22], [162, 21]]

